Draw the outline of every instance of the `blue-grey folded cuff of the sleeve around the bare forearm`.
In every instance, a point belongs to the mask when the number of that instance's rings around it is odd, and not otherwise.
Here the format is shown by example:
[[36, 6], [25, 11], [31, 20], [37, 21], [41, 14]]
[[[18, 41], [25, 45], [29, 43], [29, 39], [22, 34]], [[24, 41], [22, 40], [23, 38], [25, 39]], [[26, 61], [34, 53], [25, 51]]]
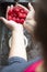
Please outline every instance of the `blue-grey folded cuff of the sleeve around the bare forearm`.
[[25, 62], [27, 61], [20, 56], [13, 56], [13, 58], [8, 59], [9, 65], [12, 63], [25, 63]]

